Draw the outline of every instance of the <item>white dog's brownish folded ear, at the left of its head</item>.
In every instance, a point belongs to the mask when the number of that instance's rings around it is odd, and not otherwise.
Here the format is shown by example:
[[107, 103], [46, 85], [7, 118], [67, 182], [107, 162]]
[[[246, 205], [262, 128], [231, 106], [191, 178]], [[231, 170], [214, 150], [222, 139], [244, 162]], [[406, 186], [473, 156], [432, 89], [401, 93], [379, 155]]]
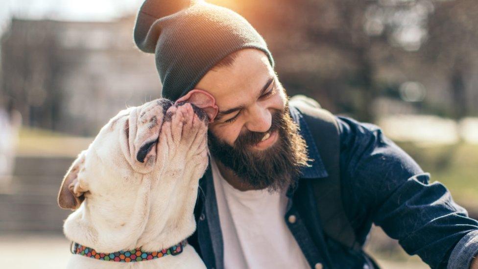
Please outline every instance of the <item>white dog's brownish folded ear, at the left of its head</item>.
[[77, 209], [85, 199], [83, 195], [87, 190], [80, 186], [78, 173], [85, 165], [86, 150], [83, 150], [63, 178], [60, 192], [58, 193], [58, 205], [63, 209]]

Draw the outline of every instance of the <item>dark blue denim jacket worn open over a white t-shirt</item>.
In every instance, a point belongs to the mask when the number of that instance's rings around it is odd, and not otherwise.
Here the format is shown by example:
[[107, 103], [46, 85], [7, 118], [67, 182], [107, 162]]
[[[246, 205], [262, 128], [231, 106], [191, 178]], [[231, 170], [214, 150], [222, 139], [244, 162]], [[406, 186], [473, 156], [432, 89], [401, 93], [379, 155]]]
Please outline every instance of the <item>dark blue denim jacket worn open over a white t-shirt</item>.
[[[374, 268], [362, 250], [328, 238], [317, 221], [311, 180], [328, 173], [301, 112], [290, 107], [308, 145], [311, 166], [302, 170], [297, 186], [287, 191], [284, 221], [311, 268]], [[425, 173], [401, 148], [373, 124], [335, 117], [340, 131], [341, 192], [344, 210], [363, 245], [372, 223], [381, 226], [410, 255], [431, 268], [467, 269], [478, 252], [478, 221], [468, 217], [439, 182]], [[200, 180], [194, 209], [197, 229], [188, 239], [207, 268], [222, 269], [223, 242], [209, 167]], [[294, 221], [288, 221], [294, 215]], [[273, 244], [273, 242], [270, 242]]]

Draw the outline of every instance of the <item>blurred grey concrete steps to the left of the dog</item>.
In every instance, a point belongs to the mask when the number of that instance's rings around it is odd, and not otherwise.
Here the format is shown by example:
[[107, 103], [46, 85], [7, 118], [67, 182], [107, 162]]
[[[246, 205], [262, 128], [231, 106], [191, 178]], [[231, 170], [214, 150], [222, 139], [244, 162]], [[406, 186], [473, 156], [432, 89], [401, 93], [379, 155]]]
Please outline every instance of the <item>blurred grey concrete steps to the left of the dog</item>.
[[7, 191], [0, 193], [1, 231], [61, 231], [71, 211], [61, 209], [57, 195], [71, 157], [16, 158]]

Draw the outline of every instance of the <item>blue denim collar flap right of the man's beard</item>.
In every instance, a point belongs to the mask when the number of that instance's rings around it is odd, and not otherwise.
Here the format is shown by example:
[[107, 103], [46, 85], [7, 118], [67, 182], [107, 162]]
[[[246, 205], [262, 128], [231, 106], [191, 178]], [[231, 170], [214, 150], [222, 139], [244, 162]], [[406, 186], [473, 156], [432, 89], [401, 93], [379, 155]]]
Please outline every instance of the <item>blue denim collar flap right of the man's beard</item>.
[[290, 116], [292, 120], [299, 125], [299, 134], [304, 138], [307, 144], [307, 155], [311, 161], [309, 161], [309, 166], [302, 168], [301, 177], [302, 178], [322, 178], [327, 177], [329, 174], [325, 169], [324, 163], [320, 158], [319, 151], [315, 145], [312, 134], [307, 126], [307, 122], [304, 120], [304, 116], [300, 111], [294, 107], [289, 106]]

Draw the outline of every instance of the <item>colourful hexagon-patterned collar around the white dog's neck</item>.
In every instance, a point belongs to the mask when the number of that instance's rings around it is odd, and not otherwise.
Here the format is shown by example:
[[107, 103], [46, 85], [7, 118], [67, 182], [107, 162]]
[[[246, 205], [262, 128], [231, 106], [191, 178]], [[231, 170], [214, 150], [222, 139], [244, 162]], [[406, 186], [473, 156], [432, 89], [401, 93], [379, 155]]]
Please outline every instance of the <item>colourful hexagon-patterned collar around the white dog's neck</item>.
[[161, 258], [167, 255], [178, 255], [183, 252], [184, 247], [188, 244], [188, 241], [184, 240], [176, 245], [173, 245], [169, 248], [163, 248], [159, 251], [145, 252], [140, 248], [129, 250], [129, 251], [117, 251], [113, 253], [101, 253], [96, 252], [95, 249], [91, 247], [86, 247], [78, 243], [72, 242], [74, 247], [72, 249], [73, 254], [79, 254], [86, 257], [90, 257], [97, 260], [103, 261], [112, 261], [112, 262], [140, 262], [146, 260], [154, 260]]

